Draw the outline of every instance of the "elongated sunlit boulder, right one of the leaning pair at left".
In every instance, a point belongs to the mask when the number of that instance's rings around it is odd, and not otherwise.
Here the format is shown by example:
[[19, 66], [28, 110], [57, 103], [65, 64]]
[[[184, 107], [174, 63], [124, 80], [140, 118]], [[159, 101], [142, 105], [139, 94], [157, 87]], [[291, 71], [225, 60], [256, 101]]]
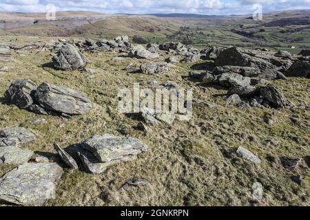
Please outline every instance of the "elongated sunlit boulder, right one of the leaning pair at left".
[[84, 94], [48, 83], [39, 85], [36, 100], [44, 109], [70, 115], [87, 113], [92, 109], [90, 99]]

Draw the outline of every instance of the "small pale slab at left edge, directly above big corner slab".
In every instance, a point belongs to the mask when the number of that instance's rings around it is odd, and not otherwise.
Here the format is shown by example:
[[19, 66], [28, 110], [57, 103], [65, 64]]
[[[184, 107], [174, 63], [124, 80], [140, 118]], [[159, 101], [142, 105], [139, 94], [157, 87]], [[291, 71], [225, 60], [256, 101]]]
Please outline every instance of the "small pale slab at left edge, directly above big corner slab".
[[2, 146], [0, 147], [0, 164], [25, 164], [33, 153], [33, 151], [17, 146]]

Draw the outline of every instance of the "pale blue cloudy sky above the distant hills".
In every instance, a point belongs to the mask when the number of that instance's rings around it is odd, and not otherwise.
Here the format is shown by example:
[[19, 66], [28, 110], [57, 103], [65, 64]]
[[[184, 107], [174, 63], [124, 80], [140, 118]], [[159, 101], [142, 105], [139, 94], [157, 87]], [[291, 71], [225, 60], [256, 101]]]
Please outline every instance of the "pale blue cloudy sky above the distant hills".
[[56, 11], [112, 14], [252, 14], [258, 9], [257, 4], [262, 6], [262, 12], [310, 9], [310, 0], [0, 0], [0, 11], [46, 12], [49, 4]]

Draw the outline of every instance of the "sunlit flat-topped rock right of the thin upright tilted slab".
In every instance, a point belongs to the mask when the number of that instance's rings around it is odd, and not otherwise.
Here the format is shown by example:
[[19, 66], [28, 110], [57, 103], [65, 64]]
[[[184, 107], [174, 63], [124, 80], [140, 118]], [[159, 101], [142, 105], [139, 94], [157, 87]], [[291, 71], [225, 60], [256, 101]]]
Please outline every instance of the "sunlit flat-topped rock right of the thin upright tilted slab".
[[114, 135], [94, 135], [82, 142], [83, 148], [91, 151], [99, 162], [123, 160], [130, 155], [138, 155], [147, 151], [147, 145], [134, 137], [118, 137]]

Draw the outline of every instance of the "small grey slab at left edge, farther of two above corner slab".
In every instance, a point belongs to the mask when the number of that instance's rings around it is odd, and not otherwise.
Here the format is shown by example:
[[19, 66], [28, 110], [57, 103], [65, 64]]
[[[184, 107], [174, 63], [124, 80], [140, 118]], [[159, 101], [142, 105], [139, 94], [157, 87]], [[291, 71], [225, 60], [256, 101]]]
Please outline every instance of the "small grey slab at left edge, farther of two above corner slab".
[[37, 140], [37, 136], [22, 127], [3, 129], [0, 131], [0, 147], [28, 144], [34, 140]]

